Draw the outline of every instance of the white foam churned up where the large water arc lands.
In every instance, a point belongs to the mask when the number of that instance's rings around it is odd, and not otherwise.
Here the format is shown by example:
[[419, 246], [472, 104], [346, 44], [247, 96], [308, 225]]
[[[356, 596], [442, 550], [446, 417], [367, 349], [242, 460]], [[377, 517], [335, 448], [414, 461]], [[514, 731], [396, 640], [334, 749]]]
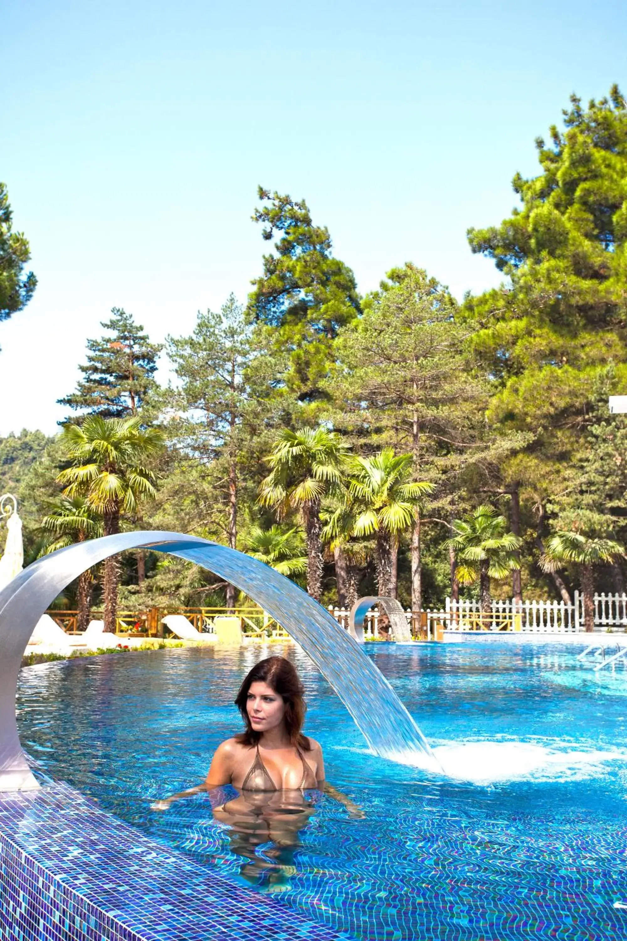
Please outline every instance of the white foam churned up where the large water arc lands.
[[532, 742], [464, 742], [433, 749], [447, 777], [473, 784], [506, 781], [577, 781], [607, 774], [608, 762], [627, 762], [613, 749], [564, 751]]

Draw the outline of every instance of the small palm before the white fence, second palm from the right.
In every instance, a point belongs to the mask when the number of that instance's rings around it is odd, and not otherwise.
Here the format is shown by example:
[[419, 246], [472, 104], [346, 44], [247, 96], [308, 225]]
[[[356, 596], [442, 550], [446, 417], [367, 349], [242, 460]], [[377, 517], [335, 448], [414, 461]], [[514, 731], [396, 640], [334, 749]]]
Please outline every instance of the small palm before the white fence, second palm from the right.
[[520, 562], [516, 553], [522, 540], [508, 532], [508, 523], [488, 503], [482, 503], [463, 519], [455, 519], [445, 548], [455, 550], [455, 576], [460, 584], [479, 580], [481, 614], [492, 607], [491, 579], [506, 579]]

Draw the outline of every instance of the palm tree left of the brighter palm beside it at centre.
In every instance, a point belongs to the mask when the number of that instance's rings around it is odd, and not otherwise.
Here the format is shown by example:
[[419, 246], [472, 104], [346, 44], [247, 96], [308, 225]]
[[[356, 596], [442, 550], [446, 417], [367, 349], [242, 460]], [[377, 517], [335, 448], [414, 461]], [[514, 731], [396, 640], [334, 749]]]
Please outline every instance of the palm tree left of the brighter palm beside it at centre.
[[347, 447], [334, 431], [299, 428], [282, 431], [268, 461], [272, 470], [261, 482], [259, 502], [273, 507], [279, 520], [296, 510], [306, 538], [307, 592], [320, 601], [322, 591], [322, 497], [339, 486]]

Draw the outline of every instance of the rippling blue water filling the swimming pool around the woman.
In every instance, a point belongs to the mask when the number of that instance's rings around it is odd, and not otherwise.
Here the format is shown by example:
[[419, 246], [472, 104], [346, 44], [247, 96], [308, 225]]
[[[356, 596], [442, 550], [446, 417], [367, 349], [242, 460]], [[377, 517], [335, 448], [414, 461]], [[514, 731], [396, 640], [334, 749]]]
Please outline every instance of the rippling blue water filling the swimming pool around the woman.
[[[20, 733], [48, 774], [199, 868], [280, 893], [353, 937], [618, 941], [627, 936], [627, 672], [594, 675], [577, 662], [580, 649], [366, 645], [449, 778], [369, 754], [293, 647], [31, 667]], [[313, 793], [298, 837], [273, 832], [277, 845], [214, 820], [204, 795], [150, 810], [204, 778], [214, 747], [240, 727], [232, 700], [243, 675], [271, 652], [297, 664], [306, 730], [322, 744], [329, 781], [362, 813]]]

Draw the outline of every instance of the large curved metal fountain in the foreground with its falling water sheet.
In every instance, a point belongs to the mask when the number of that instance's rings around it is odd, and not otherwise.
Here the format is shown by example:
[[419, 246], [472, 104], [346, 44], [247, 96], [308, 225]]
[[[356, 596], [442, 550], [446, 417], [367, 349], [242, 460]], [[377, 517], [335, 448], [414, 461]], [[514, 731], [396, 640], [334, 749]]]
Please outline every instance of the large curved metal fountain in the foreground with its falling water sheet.
[[273, 568], [242, 552], [179, 533], [120, 533], [53, 552], [0, 591], [0, 791], [34, 789], [15, 722], [15, 691], [28, 639], [54, 598], [81, 572], [110, 555], [149, 549], [210, 569], [254, 598], [297, 641], [333, 686], [368, 744], [384, 758], [440, 771], [397, 694], [337, 621]]

